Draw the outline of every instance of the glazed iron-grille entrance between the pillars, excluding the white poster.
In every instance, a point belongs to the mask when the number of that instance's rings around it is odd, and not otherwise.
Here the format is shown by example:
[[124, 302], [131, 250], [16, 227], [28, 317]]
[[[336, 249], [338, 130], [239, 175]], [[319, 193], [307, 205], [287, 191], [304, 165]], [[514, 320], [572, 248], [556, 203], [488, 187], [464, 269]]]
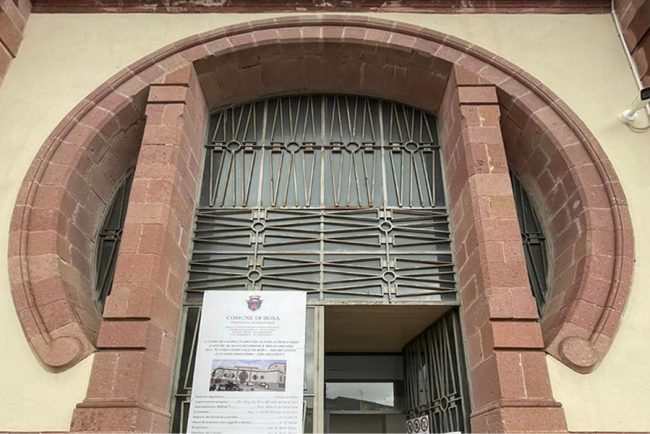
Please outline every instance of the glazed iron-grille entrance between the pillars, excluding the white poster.
[[211, 116], [174, 432], [186, 431], [203, 295], [229, 290], [307, 293], [306, 432], [400, 432], [422, 416], [431, 432], [469, 429], [438, 140], [433, 115], [354, 95]]

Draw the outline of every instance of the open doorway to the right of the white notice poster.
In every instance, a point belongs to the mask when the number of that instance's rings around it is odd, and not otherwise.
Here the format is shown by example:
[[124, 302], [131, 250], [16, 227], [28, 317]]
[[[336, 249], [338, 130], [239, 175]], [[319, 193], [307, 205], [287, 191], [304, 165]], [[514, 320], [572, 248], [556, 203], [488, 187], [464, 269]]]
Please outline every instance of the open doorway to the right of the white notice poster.
[[323, 428], [339, 433], [467, 431], [458, 313], [451, 306], [327, 306]]

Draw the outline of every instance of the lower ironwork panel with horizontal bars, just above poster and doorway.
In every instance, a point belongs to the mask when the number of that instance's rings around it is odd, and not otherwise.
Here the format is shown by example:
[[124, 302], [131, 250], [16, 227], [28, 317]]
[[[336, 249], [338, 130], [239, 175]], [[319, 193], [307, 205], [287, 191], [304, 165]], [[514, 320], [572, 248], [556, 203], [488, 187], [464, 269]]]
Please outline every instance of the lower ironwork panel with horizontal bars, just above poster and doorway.
[[453, 301], [446, 219], [445, 212], [412, 209], [201, 210], [188, 291]]

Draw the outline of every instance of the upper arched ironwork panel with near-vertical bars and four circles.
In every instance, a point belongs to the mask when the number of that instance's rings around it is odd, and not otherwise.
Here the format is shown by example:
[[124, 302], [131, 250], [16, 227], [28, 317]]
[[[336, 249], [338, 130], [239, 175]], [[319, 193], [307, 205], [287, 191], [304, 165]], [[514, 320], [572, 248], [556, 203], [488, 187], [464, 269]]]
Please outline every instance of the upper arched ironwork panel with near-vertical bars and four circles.
[[285, 97], [213, 117], [202, 206], [445, 207], [431, 115], [349, 96]]

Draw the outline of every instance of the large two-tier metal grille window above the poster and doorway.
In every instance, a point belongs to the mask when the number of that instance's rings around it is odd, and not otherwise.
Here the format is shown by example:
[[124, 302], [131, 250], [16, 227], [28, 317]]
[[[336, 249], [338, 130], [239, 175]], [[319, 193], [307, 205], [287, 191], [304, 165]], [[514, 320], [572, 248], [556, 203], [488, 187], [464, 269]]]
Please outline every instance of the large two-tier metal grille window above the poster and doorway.
[[355, 96], [283, 97], [212, 118], [190, 293], [456, 300], [431, 115]]

